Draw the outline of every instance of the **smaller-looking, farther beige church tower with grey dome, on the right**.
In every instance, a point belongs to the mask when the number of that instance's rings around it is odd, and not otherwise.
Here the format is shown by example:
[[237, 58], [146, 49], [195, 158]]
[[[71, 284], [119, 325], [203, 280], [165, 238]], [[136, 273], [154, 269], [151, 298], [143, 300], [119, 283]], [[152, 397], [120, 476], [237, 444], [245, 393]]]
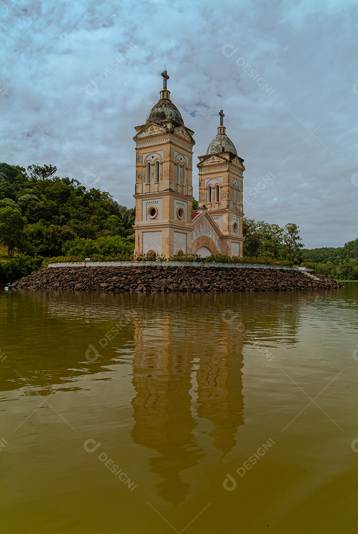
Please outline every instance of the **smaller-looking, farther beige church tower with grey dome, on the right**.
[[207, 208], [223, 234], [222, 254], [242, 256], [243, 159], [225, 133], [221, 109], [217, 136], [207, 153], [199, 156], [199, 209]]

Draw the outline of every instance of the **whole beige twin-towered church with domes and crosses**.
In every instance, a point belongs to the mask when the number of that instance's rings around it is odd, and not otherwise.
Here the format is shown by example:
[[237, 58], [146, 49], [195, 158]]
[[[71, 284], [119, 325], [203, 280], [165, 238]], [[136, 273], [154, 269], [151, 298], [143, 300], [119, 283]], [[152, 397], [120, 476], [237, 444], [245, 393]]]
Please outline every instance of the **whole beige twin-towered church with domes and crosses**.
[[218, 133], [199, 156], [199, 208], [193, 201], [193, 130], [163, 89], [145, 124], [136, 126], [135, 255], [242, 256], [242, 173], [220, 111]]

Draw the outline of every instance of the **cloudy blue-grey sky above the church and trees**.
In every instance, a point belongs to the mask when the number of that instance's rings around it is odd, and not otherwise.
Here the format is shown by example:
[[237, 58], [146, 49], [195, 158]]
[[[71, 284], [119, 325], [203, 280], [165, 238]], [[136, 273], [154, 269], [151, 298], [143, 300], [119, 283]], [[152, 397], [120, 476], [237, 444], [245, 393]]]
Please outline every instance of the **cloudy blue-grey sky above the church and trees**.
[[224, 109], [248, 218], [358, 238], [357, 2], [3, 0], [0, 161], [134, 206], [135, 135], [168, 89], [205, 154]]

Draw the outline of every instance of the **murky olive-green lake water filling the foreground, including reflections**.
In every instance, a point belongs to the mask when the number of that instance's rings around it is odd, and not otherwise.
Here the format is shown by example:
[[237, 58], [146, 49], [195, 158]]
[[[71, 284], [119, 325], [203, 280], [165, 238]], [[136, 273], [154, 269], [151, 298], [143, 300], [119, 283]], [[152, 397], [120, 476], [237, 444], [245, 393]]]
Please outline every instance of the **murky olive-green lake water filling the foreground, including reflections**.
[[0, 293], [0, 531], [353, 534], [358, 283]]

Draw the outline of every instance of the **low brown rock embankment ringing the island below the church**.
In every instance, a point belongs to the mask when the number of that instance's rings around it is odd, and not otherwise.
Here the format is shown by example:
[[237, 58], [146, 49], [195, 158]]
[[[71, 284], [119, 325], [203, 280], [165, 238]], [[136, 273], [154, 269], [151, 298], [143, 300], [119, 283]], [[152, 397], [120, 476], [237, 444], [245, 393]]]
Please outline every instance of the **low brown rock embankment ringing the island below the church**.
[[295, 291], [343, 287], [336, 280], [314, 274], [319, 280], [299, 271], [191, 265], [48, 267], [17, 280], [12, 287], [75, 291]]

